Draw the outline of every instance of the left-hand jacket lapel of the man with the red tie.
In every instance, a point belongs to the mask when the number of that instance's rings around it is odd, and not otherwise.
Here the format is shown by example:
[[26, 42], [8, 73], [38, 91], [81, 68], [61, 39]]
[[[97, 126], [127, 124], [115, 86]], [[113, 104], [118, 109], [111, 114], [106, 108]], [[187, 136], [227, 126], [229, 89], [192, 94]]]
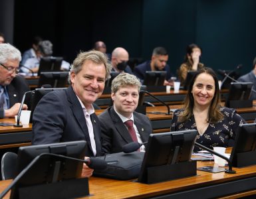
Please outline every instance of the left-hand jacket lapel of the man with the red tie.
[[124, 139], [124, 141], [126, 141], [126, 143], [132, 142], [132, 137], [130, 136], [128, 129], [126, 129], [124, 123], [122, 122], [122, 119], [120, 119], [118, 114], [116, 114], [116, 111], [114, 111], [114, 107], [111, 107], [109, 110], [110, 110], [110, 117], [112, 118], [112, 121], [118, 133], [122, 136], [122, 138]]

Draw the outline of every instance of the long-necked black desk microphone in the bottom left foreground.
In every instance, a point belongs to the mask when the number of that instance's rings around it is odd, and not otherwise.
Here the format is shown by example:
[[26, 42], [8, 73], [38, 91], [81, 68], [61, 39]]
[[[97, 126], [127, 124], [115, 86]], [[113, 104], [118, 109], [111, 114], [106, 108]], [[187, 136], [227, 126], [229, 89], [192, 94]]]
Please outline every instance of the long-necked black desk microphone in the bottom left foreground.
[[33, 159], [33, 161], [31, 161], [31, 163], [29, 163], [29, 165], [27, 165], [11, 182], [11, 184], [9, 184], [9, 186], [7, 186], [7, 188], [5, 188], [5, 190], [3, 190], [3, 192], [1, 192], [0, 194], [0, 198], [3, 198], [3, 196], [5, 196], [5, 194], [7, 194], [7, 192], [9, 192], [9, 190], [11, 190], [11, 188], [13, 188], [13, 186], [15, 186], [15, 184], [17, 182], [19, 182], [19, 180], [29, 171], [29, 169], [35, 165], [35, 163], [37, 163], [37, 161], [39, 161], [39, 159], [41, 159], [41, 157], [45, 157], [45, 156], [53, 156], [53, 157], [61, 157], [63, 159], [70, 159], [73, 161], [80, 161], [85, 163], [89, 168], [93, 168], [93, 169], [98, 169], [98, 170], [103, 170], [104, 168], [106, 168], [106, 161], [103, 161], [102, 159], [96, 159], [96, 158], [90, 158], [90, 159], [76, 159], [76, 158], [72, 158], [72, 157], [67, 157], [64, 155], [59, 155], [59, 154], [54, 154], [54, 153], [42, 153], [41, 155], [38, 155], [37, 157], [35, 157], [35, 159]]

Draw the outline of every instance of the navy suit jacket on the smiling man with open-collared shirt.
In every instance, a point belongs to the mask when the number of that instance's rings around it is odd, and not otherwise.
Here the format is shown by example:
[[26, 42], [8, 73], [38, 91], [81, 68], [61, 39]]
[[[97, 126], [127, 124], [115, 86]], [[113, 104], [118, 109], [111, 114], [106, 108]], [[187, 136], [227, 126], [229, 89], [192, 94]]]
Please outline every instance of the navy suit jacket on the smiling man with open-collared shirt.
[[[102, 155], [100, 123], [95, 113], [92, 120], [96, 155]], [[70, 86], [66, 90], [46, 94], [33, 113], [33, 145], [85, 140], [88, 143], [86, 156], [93, 156], [84, 113], [76, 94]]]

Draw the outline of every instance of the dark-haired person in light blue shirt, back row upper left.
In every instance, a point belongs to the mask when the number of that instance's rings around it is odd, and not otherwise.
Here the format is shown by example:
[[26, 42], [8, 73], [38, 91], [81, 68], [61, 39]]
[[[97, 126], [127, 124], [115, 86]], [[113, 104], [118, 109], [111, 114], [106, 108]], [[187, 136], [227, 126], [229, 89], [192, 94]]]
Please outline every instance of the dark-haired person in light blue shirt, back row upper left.
[[32, 48], [26, 50], [22, 55], [21, 65], [24, 65], [27, 59], [29, 58], [38, 58], [41, 56], [41, 52], [39, 50], [39, 42], [43, 39], [40, 36], [35, 36], [32, 40]]

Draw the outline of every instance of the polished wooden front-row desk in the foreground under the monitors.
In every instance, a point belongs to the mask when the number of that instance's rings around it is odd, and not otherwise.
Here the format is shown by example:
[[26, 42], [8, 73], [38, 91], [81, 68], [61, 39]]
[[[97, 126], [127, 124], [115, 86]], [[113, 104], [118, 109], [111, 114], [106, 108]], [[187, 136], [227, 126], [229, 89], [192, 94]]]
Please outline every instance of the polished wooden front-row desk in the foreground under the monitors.
[[[213, 162], [197, 162], [197, 167], [210, 166]], [[256, 194], [256, 166], [235, 168], [236, 174], [211, 173], [197, 170], [197, 176], [141, 184], [133, 180], [112, 180], [91, 177], [91, 196], [85, 198], [238, 198]], [[0, 182], [0, 192], [11, 182]], [[6, 197], [7, 198], [7, 197]]]

